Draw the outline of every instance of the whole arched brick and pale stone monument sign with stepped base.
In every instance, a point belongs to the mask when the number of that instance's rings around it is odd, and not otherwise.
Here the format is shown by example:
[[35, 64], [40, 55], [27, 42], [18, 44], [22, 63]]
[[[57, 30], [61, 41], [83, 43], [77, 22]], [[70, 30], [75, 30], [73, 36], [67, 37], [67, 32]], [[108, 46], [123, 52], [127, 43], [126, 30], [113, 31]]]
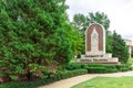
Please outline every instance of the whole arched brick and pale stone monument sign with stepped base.
[[91, 24], [85, 31], [85, 55], [81, 55], [82, 63], [119, 64], [117, 57], [105, 54], [105, 30], [98, 23]]

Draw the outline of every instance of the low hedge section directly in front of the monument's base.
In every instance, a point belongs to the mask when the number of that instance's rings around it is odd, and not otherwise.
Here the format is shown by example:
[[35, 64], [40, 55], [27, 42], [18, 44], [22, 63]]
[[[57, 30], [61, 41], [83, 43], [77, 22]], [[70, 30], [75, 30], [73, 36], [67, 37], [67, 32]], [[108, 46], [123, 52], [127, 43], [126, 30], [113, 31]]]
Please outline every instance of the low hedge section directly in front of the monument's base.
[[73, 69], [88, 69], [88, 73], [103, 74], [103, 73], [116, 73], [132, 70], [132, 66], [129, 64], [121, 65], [103, 65], [103, 64], [81, 64], [70, 63], [65, 66], [68, 70]]

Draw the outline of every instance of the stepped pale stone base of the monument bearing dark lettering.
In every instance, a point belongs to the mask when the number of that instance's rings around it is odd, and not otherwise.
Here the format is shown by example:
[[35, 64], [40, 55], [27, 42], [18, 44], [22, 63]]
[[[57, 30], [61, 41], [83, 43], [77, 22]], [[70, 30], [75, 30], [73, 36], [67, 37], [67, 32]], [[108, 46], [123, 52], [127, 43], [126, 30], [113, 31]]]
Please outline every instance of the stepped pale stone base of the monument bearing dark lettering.
[[120, 64], [117, 57], [112, 57], [111, 54], [104, 55], [81, 55], [81, 63], [94, 63], [94, 64]]

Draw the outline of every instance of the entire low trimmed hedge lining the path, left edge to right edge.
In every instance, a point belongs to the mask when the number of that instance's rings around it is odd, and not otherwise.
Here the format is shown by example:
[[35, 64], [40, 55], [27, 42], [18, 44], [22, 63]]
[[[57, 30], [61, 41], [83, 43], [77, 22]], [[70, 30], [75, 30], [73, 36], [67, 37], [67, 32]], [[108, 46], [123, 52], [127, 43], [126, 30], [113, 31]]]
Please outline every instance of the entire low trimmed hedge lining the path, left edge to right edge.
[[115, 73], [115, 72], [126, 72], [132, 70], [132, 66], [129, 64], [122, 65], [101, 65], [101, 64], [81, 64], [81, 63], [70, 63], [65, 66], [65, 72], [57, 73], [54, 75], [43, 76], [42, 80], [38, 81], [20, 81], [20, 82], [8, 82], [0, 85], [0, 88], [37, 88], [45, 84], [50, 84], [60, 79], [70, 78], [78, 75], [83, 75], [88, 73]]

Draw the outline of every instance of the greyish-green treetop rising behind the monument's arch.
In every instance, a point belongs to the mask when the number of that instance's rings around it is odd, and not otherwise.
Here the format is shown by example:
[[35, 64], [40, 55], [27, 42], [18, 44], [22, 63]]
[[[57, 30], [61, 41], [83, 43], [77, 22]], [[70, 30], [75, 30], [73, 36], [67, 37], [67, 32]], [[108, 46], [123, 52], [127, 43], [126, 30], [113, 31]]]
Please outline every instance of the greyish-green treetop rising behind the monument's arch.
[[95, 22], [99, 24], [102, 24], [104, 29], [108, 31], [110, 26], [110, 20], [108, 15], [104, 14], [103, 12], [95, 12], [95, 13], [90, 12], [89, 15], [86, 16], [81, 13], [78, 13], [78, 14], [74, 14], [73, 16], [73, 24], [79, 30], [85, 31], [88, 25]]

